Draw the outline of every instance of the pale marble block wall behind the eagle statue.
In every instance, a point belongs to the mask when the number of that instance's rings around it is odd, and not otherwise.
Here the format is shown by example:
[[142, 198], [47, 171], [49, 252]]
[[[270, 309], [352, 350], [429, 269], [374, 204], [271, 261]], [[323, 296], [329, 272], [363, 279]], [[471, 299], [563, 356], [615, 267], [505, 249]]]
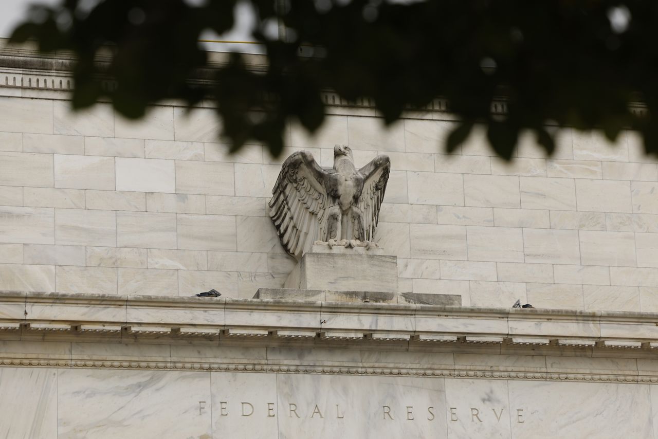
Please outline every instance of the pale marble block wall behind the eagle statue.
[[[3, 89], [0, 88], [0, 92]], [[636, 134], [615, 144], [564, 130], [553, 157], [530, 136], [512, 163], [476, 130], [454, 155], [449, 120], [334, 108], [314, 137], [291, 126], [278, 159], [230, 155], [212, 109], [153, 107], [128, 122], [108, 105], [71, 115], [64, 93], [0, 93], [0, 290], [251, 297], [295, 265], [266, 201], [280, 163], [334, 143], [392, 173], [377, 239], [399, 290], [465, 305], [658, 311], [658, 168]]]

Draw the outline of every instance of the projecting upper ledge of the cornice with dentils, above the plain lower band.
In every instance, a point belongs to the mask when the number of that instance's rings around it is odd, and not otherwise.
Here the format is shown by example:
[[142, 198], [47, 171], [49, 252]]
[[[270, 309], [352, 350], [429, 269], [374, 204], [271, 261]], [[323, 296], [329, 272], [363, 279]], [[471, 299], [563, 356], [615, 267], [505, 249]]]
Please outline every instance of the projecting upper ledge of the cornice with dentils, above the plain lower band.
[[649, 352], [658, 314], [0, 292], [0, 334]]

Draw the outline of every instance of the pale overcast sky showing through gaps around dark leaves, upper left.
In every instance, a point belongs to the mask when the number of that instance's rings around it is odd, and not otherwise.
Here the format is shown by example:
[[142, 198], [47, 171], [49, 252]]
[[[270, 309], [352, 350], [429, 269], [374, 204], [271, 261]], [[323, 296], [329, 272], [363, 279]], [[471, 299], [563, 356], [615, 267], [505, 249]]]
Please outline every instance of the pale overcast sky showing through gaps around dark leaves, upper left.
[[[195, 3], [199, 0], [188, 0]], [[9, 37], [16, 24], [21, 22], [27, 16], [28, 5], [32, 3], [45, 3], [55, 5], [61, 3], [61, 0], [0, 0], [0, 37]], [[236, 28], [227, 34], [218, 36], [213, 32], [207, 32], [201, 36], [201, 39], [221, 39], [227, 41], [250, 41], [252, 38], [251, 26], [253, 18], [249, 14], [249, 9], [245, 5], [240, 5], [236, 10]], [[205, 43], [208, 50], [226, 51], [238, 50], [249, 53], [262, 53], [259, 47], [253, 44], [219, 44]]]

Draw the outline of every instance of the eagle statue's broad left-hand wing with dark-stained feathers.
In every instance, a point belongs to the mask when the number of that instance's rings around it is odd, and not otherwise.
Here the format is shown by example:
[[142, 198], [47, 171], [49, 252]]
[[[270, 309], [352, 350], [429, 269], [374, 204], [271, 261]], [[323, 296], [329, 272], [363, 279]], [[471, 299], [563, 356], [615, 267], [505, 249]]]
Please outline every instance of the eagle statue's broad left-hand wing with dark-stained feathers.
[[297, 151], [284, 161], [272, 189], [269, 206], [276, 234], [286, 252], [297, 259], [317, 236], [323, 236], [327, 174], [313, 154]]

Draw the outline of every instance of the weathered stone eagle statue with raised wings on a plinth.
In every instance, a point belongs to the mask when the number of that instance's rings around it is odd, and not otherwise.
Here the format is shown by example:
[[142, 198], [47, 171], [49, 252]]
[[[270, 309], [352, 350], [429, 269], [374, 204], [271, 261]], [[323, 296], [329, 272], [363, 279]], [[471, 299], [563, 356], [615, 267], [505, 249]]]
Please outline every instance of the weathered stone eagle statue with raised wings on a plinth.
[[345, 247], [372, 243], [390, 172], [378, 155], [361, 169], [347, 145], [334, 146], [334, 167], [323, 168], [309, 151], [292, 153], [272, 189], [270, 217], [286, 252], [299, 259], [313, 244]]

